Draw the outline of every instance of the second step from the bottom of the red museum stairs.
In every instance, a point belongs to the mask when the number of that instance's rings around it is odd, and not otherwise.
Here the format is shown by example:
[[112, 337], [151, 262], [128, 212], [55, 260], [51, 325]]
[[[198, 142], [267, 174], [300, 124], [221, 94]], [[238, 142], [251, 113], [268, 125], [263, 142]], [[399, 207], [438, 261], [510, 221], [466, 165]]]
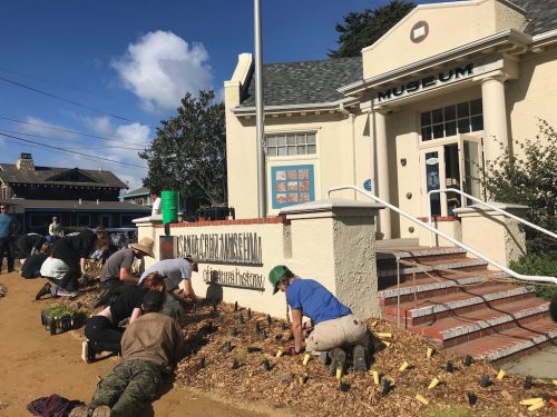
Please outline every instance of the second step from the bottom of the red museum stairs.
[[442, 347], [457, 346], [479, 337], [548, 317], [549, 301], [529, 298], [498, 308], [485, 308], [410, 328], [437, 339]]

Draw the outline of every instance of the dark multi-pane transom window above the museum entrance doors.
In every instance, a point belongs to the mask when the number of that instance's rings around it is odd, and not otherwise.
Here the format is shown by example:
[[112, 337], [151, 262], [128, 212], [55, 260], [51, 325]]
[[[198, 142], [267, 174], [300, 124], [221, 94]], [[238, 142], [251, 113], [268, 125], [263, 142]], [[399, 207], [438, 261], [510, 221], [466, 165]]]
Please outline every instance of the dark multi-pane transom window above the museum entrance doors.
[[426, 111], [420, 115], [421, 140], [483, 130], [482, 112], [481, 99]]

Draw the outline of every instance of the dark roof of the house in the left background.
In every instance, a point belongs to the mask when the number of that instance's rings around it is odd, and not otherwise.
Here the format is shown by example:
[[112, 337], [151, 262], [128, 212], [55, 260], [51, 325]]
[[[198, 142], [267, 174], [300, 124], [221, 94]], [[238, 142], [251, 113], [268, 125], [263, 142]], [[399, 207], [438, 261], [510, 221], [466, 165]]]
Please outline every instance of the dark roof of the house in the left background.
[[[81, 180], [65, 180], [65, 176], [79, 176]], [[57, 167], [35, 167], [35, 170], [30, 170], [18, 169], [14, 163], [0, 163], [0, 180], [4, 183], [127, 188], [126, 183], [110, 171]]]

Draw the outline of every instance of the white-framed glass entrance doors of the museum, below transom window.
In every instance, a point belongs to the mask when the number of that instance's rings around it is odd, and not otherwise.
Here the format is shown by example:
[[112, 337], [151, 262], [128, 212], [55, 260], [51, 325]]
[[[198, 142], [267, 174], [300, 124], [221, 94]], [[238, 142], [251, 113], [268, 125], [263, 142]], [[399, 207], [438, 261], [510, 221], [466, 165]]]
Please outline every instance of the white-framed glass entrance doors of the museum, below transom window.
[[[420, 150], [422, 201], [428, 207], [428, 192], [453, 188], [480, 197], [481, 138], [460, 135], [457, 140], [429, 146]], [[459, 207], [472, 201], [457, 192], [432, 193], [429, 197], [432, 216], [452, 216]]]

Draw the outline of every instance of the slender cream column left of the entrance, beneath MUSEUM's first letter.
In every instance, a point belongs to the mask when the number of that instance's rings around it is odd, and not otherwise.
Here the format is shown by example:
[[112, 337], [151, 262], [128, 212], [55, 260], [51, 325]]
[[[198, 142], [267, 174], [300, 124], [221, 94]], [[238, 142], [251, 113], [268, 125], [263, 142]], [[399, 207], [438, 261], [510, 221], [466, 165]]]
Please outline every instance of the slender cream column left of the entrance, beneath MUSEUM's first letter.
[[[372, 115], [375, 137], [375, 180], [373, 181], [375, 189], [372, 189], [372, 192], [383, 201], [390, 202], [387, 111], [375, 109]], [[380, 211], [379, 231], [383, 235], [383, 239], [391, 238], [391, 210]]]

